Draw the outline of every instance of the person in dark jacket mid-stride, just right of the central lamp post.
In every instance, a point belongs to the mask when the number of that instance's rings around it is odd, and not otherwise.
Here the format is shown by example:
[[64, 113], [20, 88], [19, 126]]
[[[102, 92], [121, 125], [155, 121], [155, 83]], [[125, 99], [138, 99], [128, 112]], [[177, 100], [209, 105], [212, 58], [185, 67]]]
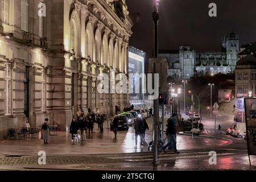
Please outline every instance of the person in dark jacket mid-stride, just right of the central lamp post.
[[176, 114], [172, 114], [172, 117], [169, 119], [166, 135], [170, 137], [170, 142], [166, 144], [166, 146], [163, 147], [163, 151], [166, 152], [166, 148], [171, 145], [171, 142], [174, 147], [174, 153], [179, 154], [180, 152], [177, 151], [177, 142], [176, 142], [176, 134], [177, 134], [177, 126], [176, 126]]

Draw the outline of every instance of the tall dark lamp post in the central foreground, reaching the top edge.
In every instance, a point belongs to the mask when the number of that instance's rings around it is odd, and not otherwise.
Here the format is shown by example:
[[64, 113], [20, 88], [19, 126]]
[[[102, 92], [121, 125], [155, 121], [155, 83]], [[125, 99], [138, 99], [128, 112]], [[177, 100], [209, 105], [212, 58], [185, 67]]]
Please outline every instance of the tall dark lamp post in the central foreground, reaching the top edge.
[[[154, 11], [152, 13], [154, 23], [154, 58], [158, 58], [158, 22], [159, 22], [159, 0], [154, 0]], [[155, 67], [154, 67], [155, 69]], [[155, 73], [155, 70], [154, 70]], [[153, 85], [154, 79], [153, 79]], [[154, 100], [154, 165], [158, 164], [158, 124], [159, 124], [159, 99]]]

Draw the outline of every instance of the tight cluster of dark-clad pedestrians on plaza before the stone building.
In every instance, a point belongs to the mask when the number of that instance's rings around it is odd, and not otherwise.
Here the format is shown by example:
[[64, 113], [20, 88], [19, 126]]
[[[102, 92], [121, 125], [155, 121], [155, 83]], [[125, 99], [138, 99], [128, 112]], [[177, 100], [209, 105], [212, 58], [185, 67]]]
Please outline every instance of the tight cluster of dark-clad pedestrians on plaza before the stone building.
[[84, 111], [81, 110], [77, 113], [76, 118], [74, 117], [71, 121], [69, 133], [71, 133], [72, 142], [74, 142], [75, 135], [78, 134], [80, 130], [81, 141], [86, 141], [86, 133], [89, 130], [89, 136], [93, 135], [94, 123], [98, 123], [98, 128], [100, 133], [103, 133], [103, 123], [105, 120], [105, 114], [101, 114], [97, 109], [97, 113], [94, 113], [90, 108], [88, 108], [88, 114], [84, 114]]

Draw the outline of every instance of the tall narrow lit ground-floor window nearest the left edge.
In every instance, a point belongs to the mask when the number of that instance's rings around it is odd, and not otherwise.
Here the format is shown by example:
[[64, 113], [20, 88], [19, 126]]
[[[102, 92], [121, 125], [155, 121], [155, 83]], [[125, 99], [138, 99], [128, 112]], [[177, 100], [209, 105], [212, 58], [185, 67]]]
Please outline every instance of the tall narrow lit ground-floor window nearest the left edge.
[[11, 115], [11, 63], [6, 64], [6, 115]]

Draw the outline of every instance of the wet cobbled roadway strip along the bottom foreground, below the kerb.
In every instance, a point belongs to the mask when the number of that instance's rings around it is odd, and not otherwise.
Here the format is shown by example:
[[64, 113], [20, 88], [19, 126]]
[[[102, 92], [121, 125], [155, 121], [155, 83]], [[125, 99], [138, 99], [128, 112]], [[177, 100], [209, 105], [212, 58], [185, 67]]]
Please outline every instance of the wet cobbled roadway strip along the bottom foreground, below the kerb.
[[0, 170], [256, 170], [256, 157], [250, 168], [246, 151], [214, 150], [217, 164], [209, 164], [209, 150], [182, 151], [179, 155], [159, 153], [159, 165], [152, 165], [153, 152], [112, 155], [47, 156], [46, 165], [38, 165], [37, 157], [0, 157]]

